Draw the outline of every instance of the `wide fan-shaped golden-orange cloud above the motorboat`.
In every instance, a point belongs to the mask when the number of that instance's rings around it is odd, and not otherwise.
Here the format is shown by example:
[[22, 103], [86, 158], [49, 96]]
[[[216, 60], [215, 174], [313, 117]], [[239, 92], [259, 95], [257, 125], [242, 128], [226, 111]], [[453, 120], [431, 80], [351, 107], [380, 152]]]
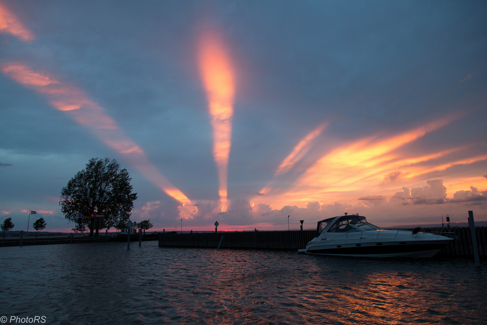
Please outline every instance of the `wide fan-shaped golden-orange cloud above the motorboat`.
[[[459, 115], [448, 116], [385, 139], [377, 136], [367, 137], [340, 146], [321, 157], [306, 170], [291, 190], [286, 193], [271, 192], [268, 200], [273, 205], [280, 205], [291, 204], [291, 202], [303, 204], [317, 200], [352, 199], [354, 196], [363, 196], [357, 193], [364, 191], [367, 194], [374, 190], [383, 191], [379, 186], [387, 185], [384, 183], [384, 175], [389, 180], [400, 177], [401, 181], [411, 181], [428, 172], [485, 159], [485, 156], [478, 156], [436, 165], [432, 163], [433, 160], [446, 157], [447, 154], [461, 148], [416, 157], [403, 157], [401, 153], [395, 151], [458, 117]], [[429, 161], [431, 163], [428, 164]]]

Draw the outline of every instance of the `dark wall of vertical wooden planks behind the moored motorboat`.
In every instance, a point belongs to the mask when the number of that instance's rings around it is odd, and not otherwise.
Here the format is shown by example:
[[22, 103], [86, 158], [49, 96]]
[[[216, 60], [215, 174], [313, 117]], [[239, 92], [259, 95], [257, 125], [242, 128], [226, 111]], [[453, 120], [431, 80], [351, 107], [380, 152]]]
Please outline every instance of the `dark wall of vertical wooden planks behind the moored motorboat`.
[[[475, 227], [477, 246], [481, 257], [487, 256], [487, 227]], [[420, 231], [428, 231], [424, 228]], [[447, 227], [444, 230], [448, 232]], [[159, 247], [214, 248], [222, 241], [221, 249], [286, 249], [306, 248], [315, 238], [316, 230], [292, 231], [218, 231], [198, 233], [160, 232]], [[222, 240], [223, 236], [223, 240]], [[450, 229], [455, 240], [445, 246], [438, 255], [473, 256], [472, 239], [468, 227]]]

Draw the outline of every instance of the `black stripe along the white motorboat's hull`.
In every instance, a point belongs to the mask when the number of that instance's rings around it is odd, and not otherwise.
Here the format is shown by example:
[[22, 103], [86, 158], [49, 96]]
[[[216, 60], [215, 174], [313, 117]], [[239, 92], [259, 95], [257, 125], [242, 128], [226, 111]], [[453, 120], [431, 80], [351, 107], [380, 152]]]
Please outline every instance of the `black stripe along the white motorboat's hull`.
[[361, 246], [332, 249], [308, 249], [310, 254], [340, 254], [340, 255], [365, 255], [365, 254], [394, 254], [411, 253], [433, 249], [442, 249], [446, 244], [429, 245], [387, 245], [387, 246]]

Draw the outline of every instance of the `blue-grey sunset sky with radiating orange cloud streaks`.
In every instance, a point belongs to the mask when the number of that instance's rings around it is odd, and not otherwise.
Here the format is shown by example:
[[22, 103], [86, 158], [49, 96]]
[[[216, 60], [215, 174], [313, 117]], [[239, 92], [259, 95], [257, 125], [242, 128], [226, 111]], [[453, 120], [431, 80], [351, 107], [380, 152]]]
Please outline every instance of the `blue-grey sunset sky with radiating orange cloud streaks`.
[[[0, 222], [116, 159], [153, 230], [487, 220], [485, 1], [0, 0]], [[289, 218], [288, 218], [289, 216]]]

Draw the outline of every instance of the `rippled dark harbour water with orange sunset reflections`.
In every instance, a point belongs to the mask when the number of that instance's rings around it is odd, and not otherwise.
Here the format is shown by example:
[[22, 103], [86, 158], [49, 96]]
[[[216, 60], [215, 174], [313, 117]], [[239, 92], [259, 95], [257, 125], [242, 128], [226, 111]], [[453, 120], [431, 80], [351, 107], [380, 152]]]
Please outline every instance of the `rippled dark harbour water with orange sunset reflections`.
[[[0, 316], [44, 324], [485, 324], [469, 259], [368, 259], [157, 242], [0, 248]], [[482, 270], [487, 267], [482, 262]], [[7, 323], [8, 324], [8, 323]], [[36, 323], [37, 324], [37, 323]]]

